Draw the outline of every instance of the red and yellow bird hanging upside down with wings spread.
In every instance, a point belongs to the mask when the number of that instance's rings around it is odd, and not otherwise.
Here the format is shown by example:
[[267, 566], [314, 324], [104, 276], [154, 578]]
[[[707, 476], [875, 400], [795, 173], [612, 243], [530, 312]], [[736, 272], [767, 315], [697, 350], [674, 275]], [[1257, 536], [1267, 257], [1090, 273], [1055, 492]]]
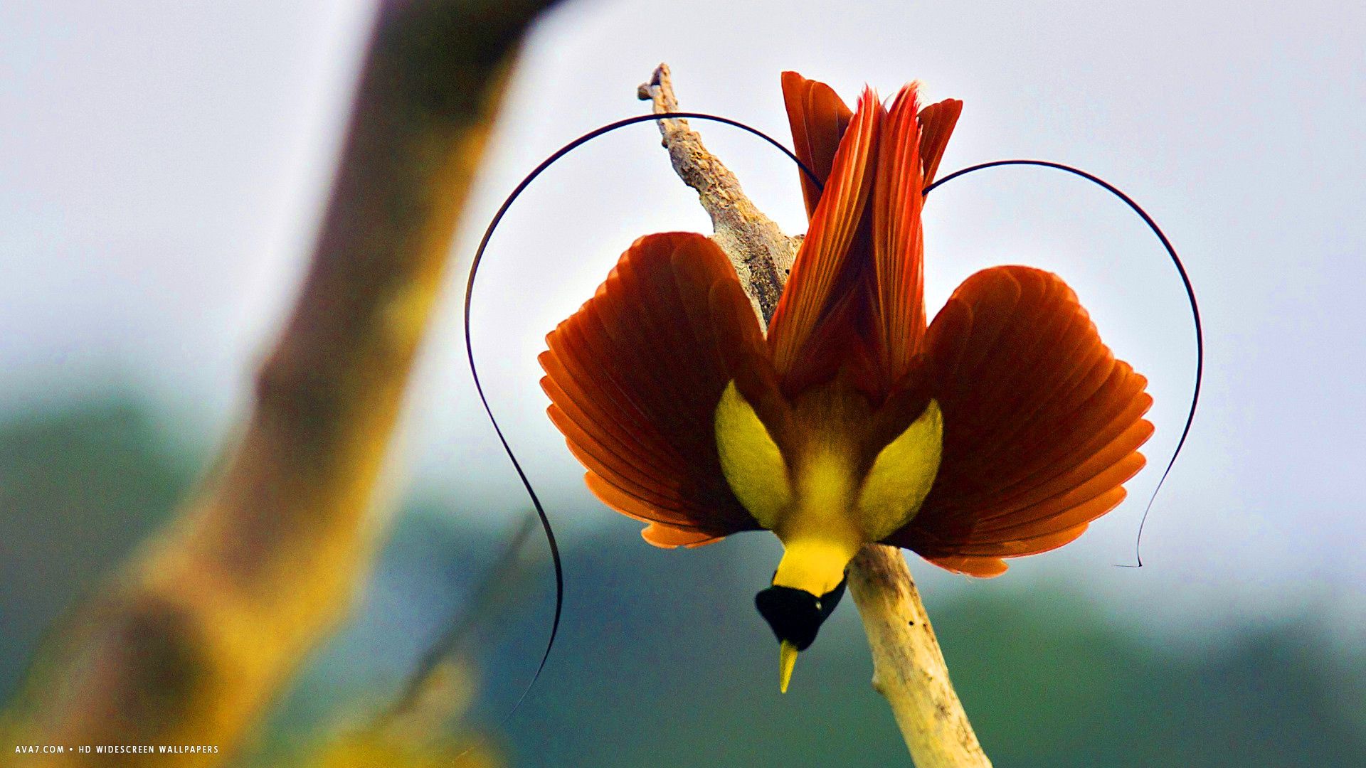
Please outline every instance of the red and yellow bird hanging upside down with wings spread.
[[1124, 497], [1153, 433], [1146, 379], [1050, 272], [993, 266], [926, 323], [922, 190], [962, 101], [917, 85], [858, 108], [783, 74], [810, 217], [768, 332], [699, 234], [643, 236], [546, 338], [549, 415], [593, 493], [657, 547], [768, 529], [755, 603], [780, 687], [861, 547], [994, 577]]

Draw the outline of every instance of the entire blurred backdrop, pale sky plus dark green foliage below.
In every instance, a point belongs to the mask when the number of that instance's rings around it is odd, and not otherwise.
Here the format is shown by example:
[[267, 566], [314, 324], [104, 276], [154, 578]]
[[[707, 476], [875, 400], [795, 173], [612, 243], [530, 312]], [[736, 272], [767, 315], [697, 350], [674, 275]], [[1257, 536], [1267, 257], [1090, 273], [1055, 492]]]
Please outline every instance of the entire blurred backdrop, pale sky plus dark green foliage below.
[[[779, 72], [852, 97], [923, 78], [967, 107], [944, 168], [1041, 157], [1132, 194], [1182, 250], [1205, 316], [1184, 418], [1184, 298], [1142, 224], [1044, 172], [974, 176], [926, 209], [933, 313], [977, 268], [1064, 275], [1150, 379], [1152, 465], [1075, 545], [999, 579], [911, 558], [958, 690], [1000, 768], [1366, 767], [1366, 11], [1335, 0], [783, 5], [575, 0], [537, 26], [466, 213], [393, 461], [402, 489], [351, 620], [251, 752], [261, 765], [392, 701], [523, 514], [460, 348], [463, 266], [503, 195], [568, 138], [682, 107], [787, 135]], [[836, 8], [832, 11], [832, 8]], [[0, 694], [52, 622], [167, 519], [232, 435], [298, 287], [369, 3], [0, 3]], [[642, 30], [649, 30], [647, 34]], [[645, 545], [594, 502], [544, 415], [535, 354], [635, 236], [709, 227], [653, 126], [548, 172], [481, 272], [474, 336], [511, 443], [563, 537], [560, 644], [544, 543], [481, 625], [474, 726], [516, 765], [904, 765], [840, 607], [777, 693], [753, 594], [773, 537]], [[702, 127], [750, 197], [805, 227], [790, 163]], [[546, 279], [552, 275], [553, 279]], [[411, 478], [411, 481], [410, 481]]]

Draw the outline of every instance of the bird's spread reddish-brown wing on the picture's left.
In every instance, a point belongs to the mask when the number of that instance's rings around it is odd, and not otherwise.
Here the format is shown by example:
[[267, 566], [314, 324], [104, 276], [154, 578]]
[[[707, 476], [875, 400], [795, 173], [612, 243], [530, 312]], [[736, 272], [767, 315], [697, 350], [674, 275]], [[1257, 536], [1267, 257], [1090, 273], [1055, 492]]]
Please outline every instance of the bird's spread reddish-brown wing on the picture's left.
[[546, 336], [549, 414], [587, 485], [652, 523], [660, 547], [758, 527], [721, 474], [713, 420], [731, 380], [762, 402], [772, 374], [735, 269], [702, 235], [649, 235]]

